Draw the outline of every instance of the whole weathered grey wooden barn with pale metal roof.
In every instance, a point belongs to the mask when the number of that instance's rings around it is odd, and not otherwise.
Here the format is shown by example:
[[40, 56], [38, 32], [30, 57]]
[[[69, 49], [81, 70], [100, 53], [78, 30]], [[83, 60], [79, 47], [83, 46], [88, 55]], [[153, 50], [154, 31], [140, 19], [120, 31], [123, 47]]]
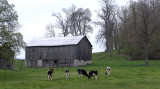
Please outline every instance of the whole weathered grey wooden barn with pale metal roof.
[[26, 67], [75, 67], [92, 63], [86, 36], [34, 38], [26, 46]]

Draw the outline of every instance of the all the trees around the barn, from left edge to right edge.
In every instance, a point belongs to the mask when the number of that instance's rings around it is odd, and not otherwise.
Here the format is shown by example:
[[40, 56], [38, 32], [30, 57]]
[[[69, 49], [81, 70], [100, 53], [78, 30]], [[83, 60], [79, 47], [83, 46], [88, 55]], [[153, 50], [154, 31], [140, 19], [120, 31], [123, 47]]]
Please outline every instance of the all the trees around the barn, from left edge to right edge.
[[[61, 12], [52, 13], [55, 23], [46, 26], [46, 37], [88, 35], [99, 28], [97, 42], [102, 42], [106, 52], [112, 50], [131, 56], [131, 59], [160, 59], [160, 0], [130, 0], [118, 7], [114, 0], [99, 0], [100, 9], [91, 12], [90, 8], [77, 8], [72, 5]], [[92, 20], [92, 14], [97, 20]], [[95, 27], [92, 24], [96, 25]], [[0, 0], [0, 60], [11, 59], [25, 47], [18, 14], [14, 5]], [[6, 45], [7, 44], [7, 45]], [[8, 50], [3, 52], [3, 50]], [[3, 63], [3, 62], [1, 62]]]

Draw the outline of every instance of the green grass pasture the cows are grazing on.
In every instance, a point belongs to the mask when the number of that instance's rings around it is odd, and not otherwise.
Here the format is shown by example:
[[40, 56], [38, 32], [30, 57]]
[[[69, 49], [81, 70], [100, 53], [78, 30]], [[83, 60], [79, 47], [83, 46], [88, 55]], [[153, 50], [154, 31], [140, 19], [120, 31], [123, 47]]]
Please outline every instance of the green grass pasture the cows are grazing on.
[[[54, 79], [47, 81], [48, 68], [27, 68], [19, 72], [0, 70], [0, 89], [160, 89], [160, 61], [150, 60], [146, 67], [144, 60], [130, 61], [127, 56], [106, 53], [93, 54], [91, 65], [68, 68], [70, 78], [65, 79], [66, 68], [54, 68]], [[105, 69], [111, 67], [111, 75], [105, 76]], [[77, 69], [98, 70], [98, 80], [78, 77]]]

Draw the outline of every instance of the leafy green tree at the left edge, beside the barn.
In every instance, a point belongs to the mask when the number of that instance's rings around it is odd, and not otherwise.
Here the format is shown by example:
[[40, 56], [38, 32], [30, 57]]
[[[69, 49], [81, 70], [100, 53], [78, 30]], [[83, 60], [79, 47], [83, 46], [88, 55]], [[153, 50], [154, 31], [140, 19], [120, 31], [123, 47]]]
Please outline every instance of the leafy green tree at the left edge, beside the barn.
[[[23, 41], [22, 34], [18, 32], [20, 27], [18, 14], [13, 8], [14, 5], [9, 4], [7, 0], [0, 0], [0, 46], [1, 49], [7, 48], [8, 50], [12, 50], [14, 54], [18, 54], [21, 48], [25, 47], [25, 42]], [[6, 43], [9, 48], [6, 47]], [[4, 55], [4, 52], [0, 51], [0, 55]], [[7, 58], [8, 55], [4, 56]]]

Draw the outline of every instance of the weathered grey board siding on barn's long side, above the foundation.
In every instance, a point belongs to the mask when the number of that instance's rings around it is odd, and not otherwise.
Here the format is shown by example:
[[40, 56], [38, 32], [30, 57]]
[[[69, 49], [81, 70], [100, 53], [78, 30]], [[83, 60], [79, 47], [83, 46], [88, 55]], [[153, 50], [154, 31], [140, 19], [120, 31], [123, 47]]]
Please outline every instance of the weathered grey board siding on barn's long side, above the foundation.
[[76, 46], [27, 47], [27, 60], [75, 59]]

